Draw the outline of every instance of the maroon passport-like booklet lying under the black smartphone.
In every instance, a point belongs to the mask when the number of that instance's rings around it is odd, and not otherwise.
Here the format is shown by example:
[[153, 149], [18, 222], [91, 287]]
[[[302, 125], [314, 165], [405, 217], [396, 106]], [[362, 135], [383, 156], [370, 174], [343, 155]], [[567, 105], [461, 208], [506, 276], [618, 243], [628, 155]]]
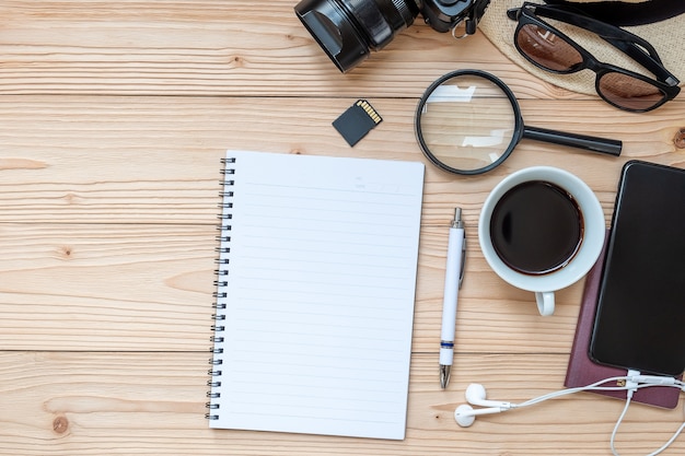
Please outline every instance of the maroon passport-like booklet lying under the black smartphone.
[[[606, 243], [604, 244], [604, 247], [606, 248]], [[608, 377], [626, 375], [625, 370], [593, 362], [588, 353], [590, 348], [590, 338], [592, 337], [592, 327], [594, 325], [594, 315], [597, 307], [597, 293], [600, 291], [600, 282], [602, 280], [604, 254], [605, 250], [603, 249], [602, 254], [600, 254], [597, 262], [592, 267], [590, 272], [588, 272], [585, 278], [585, 288], [583, 289], [582, 301], [580, 304], [576, 337], [573, 339], [573, 347], [571, 348], [571, 355], [566, 371], [566, 381], [564, 382], [564, 385], [569, 388], [590, 385]], [[604, 386], [616, 385], [606, 384]], [[624, 400], [626, 399], [626, 391], [592, 393]], [[673, 409], [677, 406], [680, 393], [681, 390], [678, 388], [652, 386], [649, 388], [638, 389], [632, 396], [632, 400], [650, 406]]]

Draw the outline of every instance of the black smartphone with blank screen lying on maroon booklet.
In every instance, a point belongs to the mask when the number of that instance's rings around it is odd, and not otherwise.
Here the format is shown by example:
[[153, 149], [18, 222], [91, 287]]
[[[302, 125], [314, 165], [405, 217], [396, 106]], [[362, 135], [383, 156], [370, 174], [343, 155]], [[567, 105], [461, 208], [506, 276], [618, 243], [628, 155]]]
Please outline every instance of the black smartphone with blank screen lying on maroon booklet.
[[685, 171], [622, 171], [590, 359], [643, 374], [685, 371]]

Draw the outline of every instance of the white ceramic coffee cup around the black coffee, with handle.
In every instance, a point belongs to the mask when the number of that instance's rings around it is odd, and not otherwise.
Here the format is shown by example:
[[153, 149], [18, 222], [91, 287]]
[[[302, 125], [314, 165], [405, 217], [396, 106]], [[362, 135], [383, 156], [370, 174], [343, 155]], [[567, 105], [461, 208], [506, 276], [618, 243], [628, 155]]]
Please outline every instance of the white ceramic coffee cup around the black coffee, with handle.
[[[550, 183], [568, 192], [576, 201], [582, 214], [582, 237], [574, 255], [566, 266], [552, 272], [529, 274], [508, 266], [498, 255], [490, 234], [492, 211], [502, 196], [513, 187], [542, 180]], [[535, 292], [537, 308], [543, 316], [552, 315], [555, 309], [555, 291], [561, 290], [582, 279], [595, 264], [602, 246], [606, 225], [604, 211], [597, 197], [579, 177], [550, 166], [533, 166], [518, 171], [502, 179], [488, 195], [480, 211], [478, 239], [480, 249], [492, 270], [508, 283]]]

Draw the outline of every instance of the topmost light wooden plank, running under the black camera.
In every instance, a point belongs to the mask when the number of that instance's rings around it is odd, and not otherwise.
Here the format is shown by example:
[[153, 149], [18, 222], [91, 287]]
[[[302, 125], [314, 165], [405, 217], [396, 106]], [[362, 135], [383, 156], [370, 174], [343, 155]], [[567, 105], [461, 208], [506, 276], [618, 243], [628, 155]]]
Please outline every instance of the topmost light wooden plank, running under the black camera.
[[418, 19], [344, 75], [293, 12], [297, 1], [3, 1], [0, 94], [419, 96], [479, 68], [523, 96], [587, 96], [532, 79], [483, 34], [455, 40]]

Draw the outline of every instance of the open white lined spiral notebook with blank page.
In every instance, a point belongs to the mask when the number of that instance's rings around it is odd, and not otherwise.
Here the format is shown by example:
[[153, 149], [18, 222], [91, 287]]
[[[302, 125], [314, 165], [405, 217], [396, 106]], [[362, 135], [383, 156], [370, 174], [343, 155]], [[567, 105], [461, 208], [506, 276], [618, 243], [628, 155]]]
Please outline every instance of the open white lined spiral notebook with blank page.
[[423, 165], [224, 163], [210, 428], [404, 439]]

